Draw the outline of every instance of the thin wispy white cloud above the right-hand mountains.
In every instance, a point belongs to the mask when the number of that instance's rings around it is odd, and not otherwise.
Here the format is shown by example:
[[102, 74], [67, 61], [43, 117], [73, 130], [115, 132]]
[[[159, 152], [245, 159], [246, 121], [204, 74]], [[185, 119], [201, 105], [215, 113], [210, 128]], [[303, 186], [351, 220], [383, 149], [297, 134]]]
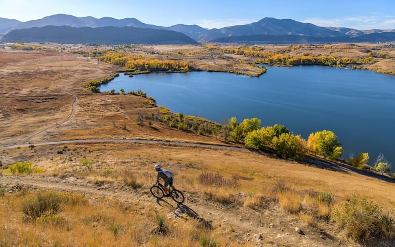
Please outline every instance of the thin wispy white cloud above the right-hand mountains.
[[320, 17], [300, 20], [301, 22], [313, 23], [322, 27], [347, 27], [359, 30], [365, 29], [395, 29], [395, 16], [372, 15], [372, 16], [349, 16], [342, 18], [324, 19]]

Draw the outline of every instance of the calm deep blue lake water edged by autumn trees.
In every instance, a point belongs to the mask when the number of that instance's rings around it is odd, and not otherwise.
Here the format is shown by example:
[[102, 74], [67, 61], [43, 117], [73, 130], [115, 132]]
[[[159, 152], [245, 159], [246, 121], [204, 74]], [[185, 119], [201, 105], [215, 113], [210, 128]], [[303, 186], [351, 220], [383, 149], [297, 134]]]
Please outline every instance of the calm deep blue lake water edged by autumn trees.
[[332, 130], [345, 149], [395, 163], [395, 76], [321, 66], [271, 67], [260, 78], [228, 73], [123, 74], [101, 91], [142, 89], [172, 112], [220, 122], [257, 117], [307, 138]]

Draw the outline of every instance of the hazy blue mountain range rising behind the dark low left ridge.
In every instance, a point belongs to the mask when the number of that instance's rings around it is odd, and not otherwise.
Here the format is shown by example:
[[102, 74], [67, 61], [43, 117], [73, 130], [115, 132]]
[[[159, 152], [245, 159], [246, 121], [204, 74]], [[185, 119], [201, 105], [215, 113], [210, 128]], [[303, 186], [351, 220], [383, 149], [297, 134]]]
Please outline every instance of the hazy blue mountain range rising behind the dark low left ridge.
[[[302, 23], [291, 19], [263, 18], [257, 22], [246, 25], [224, 27], [221, 29], [207, 30], [197, 25], [178, 24], [170, 27], [162, 27], [143, 23], [135, 18], [115, 19], [111, 17], [76, 17], [73, 15], [57, 14], [44, 17], [39, 20], [20, 22], [17, 20], [0, 18], [0, 34], [9, 31], [45, 26], [70, 26], [70, 27], [135, 27], [166, 31], [175, 31], [189, 36], [199, 42], [376, 42], [394, 41], [395, 29], [393, 30], [356, 30], [351, 28], [319, 27], [311, 23]], [[54, 30], [55, 28], [52, 28]], [[65, 30], [60, 28], [59, 30]], [[25, 31], [30, 33], [30, 31]], [[146, 31], [147, 32], [147, 31]], [[21, 37], [22, 33], [18, 33]], [[277, 36], [277, 39], [275, 38]], [[290, 36], [290, 37], [284, 37]], [[301, 36], [304, 38], [298, 38]], [[6, 38], [7, 36], [4, 36]], [[337, 38], [336, 38], [337, 37]], [[4, 39], [3, 38], [3, 39]], [[29, 37], [24, 37], [27, 40]], [[319, 39], [315, 39], [319, 38]], [[357, 39], [356, 39], [357, 38]], [[155, 41], [151, 41], [155, 43]], [[97, 43], [97, 42], [96, 42]]]

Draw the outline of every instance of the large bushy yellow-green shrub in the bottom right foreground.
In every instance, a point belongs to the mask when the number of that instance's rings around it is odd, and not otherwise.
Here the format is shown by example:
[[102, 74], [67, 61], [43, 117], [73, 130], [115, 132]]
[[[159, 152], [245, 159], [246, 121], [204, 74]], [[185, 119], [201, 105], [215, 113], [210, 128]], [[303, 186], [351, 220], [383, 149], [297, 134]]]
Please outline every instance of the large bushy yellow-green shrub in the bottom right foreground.
[[347, 202], [333, 209], [331, 219], [358, 240], [374, 238], [380, 232], [381, 208], [360, 195], [353, 194]]

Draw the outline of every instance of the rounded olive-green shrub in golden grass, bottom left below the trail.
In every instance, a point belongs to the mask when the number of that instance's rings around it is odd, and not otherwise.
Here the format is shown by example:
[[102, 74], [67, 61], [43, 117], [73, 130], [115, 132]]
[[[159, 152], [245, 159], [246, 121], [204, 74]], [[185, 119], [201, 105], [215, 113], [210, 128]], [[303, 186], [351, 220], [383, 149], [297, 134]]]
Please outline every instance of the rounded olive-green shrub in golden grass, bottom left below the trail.
[[41, 216], [50, 216], [61, 210], [64, 197], [56, 191], [40, 192], [22, 202], [22, 212], [27, 220], [36, 220]]

